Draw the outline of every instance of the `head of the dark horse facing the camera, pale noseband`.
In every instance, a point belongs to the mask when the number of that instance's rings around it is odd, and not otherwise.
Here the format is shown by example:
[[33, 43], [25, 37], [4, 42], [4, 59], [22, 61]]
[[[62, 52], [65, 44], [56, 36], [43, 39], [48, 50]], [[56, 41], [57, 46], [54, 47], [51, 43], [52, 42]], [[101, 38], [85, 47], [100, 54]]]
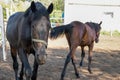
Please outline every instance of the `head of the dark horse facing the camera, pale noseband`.
[[44, 64], [46, 62], [46, 48], [49, 29], [51, 28], [49, 14], [52, 11], [52, 3], [46, 9], [41, 3], [32, 1], [31, 6], [25, 14], [25, 16], [29, 16], [32, 46], [35, 50], [35, 58], [38, 64]]

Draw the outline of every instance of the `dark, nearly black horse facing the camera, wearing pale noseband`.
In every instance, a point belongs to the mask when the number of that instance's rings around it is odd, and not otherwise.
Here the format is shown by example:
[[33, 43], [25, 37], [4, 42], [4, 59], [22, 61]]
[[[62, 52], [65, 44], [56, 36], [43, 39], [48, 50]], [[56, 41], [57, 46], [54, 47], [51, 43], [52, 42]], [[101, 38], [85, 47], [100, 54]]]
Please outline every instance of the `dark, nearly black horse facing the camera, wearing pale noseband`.
[[[26, 80], [36, 80], [38, 65], [45, 63], [49, 29], [51, 28], [49, 14], [52, 10], [53, 4], [46, 9], [40, 2], [32, 1], [25, 12], [17, 12], [10, 16], [6, 37], [10, 44], [16, 80], [23, 80], [24, 74]], [[31, 53], [35, 56], [33, 71], [27, 58]], [[19, 78], [17, 55], [22, 62]]]

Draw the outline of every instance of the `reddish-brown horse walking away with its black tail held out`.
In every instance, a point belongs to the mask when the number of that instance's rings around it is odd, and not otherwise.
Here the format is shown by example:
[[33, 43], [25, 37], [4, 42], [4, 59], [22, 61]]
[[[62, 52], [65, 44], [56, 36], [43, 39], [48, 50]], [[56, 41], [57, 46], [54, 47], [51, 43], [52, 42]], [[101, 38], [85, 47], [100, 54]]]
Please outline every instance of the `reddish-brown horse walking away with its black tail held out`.
[[86, 22], [85, 24], [79, 21], [73, 21], [70, 24], [62, 25], [55, 27], [51, 30], [50, 37], [51, 39], [56, 39], [57, 37], [65, 34], [70, 52], [67, 55], [65, 60], [64, 68], [61, 74], [61, 80], [64, 79], [66, 73], [67, 64], [72, 60], [72, 64], [74, 66], [75, 75], [79, 78], [79, 72], [75, 65], [75, 51], [78, 46], [81, 46], [82, 54], [81, 54], [81, 62], [80, 66], [83, 64], [83, 59], [85, 57], [84, 47], [88, 46], [88, 71], [91, 72], [91, 59], [92, 59], [92, 50], [94, 46], [94, 41], [97, 43], [99, 41], [99, 34], [101, 30], [102, 22], [93, 23], [93, 22]]

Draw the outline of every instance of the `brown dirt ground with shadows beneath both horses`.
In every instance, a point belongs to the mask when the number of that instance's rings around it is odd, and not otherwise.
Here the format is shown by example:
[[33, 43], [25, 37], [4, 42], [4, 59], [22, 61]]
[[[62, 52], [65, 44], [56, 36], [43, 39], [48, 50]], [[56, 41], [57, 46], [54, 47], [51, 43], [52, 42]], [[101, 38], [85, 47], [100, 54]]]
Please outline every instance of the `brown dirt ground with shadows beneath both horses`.
[[[47, 62], [39, 66], [37, 80], [59, 80], [63, 69], [65, 58], [68, 54], [68, 44], [65, 37], [57, 40], [49, 40], [47, 49]], [[80, 47], [76, 50], [76, 65], [80, 73], [77, 79], [71, 63], [68, 64], [65, 80], [120, 80], [120, 37], [100, 36], [100, 42], [95, 44], [92, 59], [93, 74], [87, 71], [87, 47], [83, 67], [79, 67], [81, 59]], [[12, 68], [12, 59], [9, 49], [7, 50], [7, 61], [2, 60], [0, 52], [0, 80], [15, 80]], [[33, 64], [33, 56], [29, 61]], [[19, 61], [19, 67], [21, 63]]]

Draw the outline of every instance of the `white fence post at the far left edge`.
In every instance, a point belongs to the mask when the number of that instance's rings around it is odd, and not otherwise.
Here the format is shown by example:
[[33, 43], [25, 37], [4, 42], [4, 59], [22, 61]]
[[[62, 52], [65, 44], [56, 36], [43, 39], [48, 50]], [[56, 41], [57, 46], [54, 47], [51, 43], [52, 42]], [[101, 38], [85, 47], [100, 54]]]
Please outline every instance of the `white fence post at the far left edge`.
[[3, 26], [3, 9], [0, 5], [0, 27], [2, 34], [2, 52], [3, 52], [3, 60], [6, 61], [6, 52], [5, 52], [5, 27]]

